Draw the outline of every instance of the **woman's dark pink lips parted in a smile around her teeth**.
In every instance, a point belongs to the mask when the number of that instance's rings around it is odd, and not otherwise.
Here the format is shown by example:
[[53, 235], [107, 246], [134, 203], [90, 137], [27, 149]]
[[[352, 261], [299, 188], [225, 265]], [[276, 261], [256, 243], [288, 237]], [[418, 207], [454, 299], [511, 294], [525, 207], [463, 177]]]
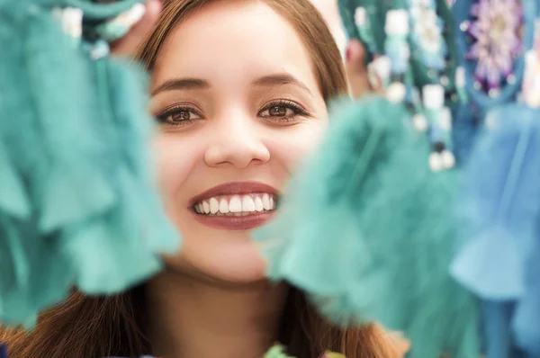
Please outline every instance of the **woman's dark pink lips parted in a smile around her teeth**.
[[194, 196], [189, 201], [189, 210], [192, 212], [197, 221], [209, 228], [219, 228], [222, 230], [250, 230], [253, 228], [258, 228], [264, 225], [269, 219], [272, 219], [275, 215], [275, 211], [254, 212], [253, 214], [246, 216], [206, 216], [197, 214], [193, 210], [193, 205], [196, 202], [209, 199], [214, 196], [244, 195], [257, 192], [276, 194], [277, 190], [270, 185], [257, 182], [224, 183], [214, 186], [206, 192], [202, 192], [201, 194]]

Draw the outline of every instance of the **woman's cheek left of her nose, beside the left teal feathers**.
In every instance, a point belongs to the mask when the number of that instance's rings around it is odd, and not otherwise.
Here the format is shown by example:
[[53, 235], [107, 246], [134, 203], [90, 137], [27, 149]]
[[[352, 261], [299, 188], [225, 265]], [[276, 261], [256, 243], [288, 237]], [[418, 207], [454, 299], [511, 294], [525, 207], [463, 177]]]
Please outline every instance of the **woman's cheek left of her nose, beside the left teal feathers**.
[[174, 200], [196, 165], [197, 158], [202, 157], [202, 142], [174, 133], [161, 133], [154, 139], [152, 147], [159, 188], [166, 201]]

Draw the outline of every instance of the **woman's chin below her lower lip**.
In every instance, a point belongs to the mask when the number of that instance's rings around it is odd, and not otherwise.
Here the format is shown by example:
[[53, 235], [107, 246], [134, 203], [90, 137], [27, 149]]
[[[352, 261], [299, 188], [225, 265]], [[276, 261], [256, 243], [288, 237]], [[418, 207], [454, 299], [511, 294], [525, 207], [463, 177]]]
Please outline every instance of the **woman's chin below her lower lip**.
[[198, 280], [247, 284], [266, 280], [266, 261], [247, 240], [190, 240], [184, 237], [179, 255], [165, 257], [166, 268]]

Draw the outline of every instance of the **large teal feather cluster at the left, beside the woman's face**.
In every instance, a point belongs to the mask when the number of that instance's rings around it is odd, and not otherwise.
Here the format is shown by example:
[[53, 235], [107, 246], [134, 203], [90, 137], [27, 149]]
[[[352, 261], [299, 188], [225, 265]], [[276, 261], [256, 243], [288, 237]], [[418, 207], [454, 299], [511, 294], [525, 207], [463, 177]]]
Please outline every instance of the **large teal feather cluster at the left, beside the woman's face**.
[[180, 244], [150, 166], [148, 80], [106, 51], [96, 56], [105, 42], [67, 36], [53, 10], [62, 4], [0, 1], [4, 325], [32, 327], [74, 287], [124, 290]]

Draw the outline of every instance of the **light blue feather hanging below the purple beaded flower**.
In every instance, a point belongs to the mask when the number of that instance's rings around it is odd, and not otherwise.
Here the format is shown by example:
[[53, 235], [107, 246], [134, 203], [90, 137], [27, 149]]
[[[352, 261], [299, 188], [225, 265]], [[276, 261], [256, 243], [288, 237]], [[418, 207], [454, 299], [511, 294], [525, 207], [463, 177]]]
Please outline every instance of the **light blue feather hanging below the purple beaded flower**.
[[453, 273], [482, 298], [513, 300], [525, 291], [522, 258], [532, 248], [540, 213], [538, 114], [518, 104], [492, 111], [467, 166], [460, 204], [467, 240]]

